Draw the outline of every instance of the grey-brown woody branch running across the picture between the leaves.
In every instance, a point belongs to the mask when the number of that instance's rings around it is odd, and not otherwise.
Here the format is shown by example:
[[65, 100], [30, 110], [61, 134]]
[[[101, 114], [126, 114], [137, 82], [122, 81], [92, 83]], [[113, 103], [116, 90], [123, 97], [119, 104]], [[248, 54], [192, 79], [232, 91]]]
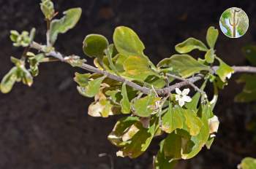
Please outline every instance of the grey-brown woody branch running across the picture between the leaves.
[[[45, 46], [42, 44], [38, 44], [37, 42], [32, 42], [30, 47], [32, 49], [39, 50], [40, 52], [45, 52], [44, 51]], [[51, 52], [45, 53], [45, 55], [52, 56], [53, 58], [57, 58], [64, 63], [68, 63], [67, 60], [65, 60], [65, 58], [68, 56], [62, 55], [60, 52], [51, 51]], [[115, 74], [110, 74], [108, 71], [102, 71], [99, 68], [95, 68], [94, 66], [91, 66], [89, 64], [83, 63], [83, 65], [80, 66], [80, 68], [83, 68], [86, 71], [91, 71], [91, 72], [94, 72], [97, 74], [105, 75], [108, 78], [114, 79], [118, 82], [123, 82], [123, 83], [125, 82], [129, 87], [132, 87], [135, 90], [138, 90], [144, 94], [148, 94], [151, 92], [151, 88], [141, 87], [139, 84], [129, 81], [129, 80], [125, 79], [124, 77], [117, 76]], [[215, 71], [217, 71], [218, 68], [219, 68], [219, 66], [213, 66], [212, 70], [215, 72]], [[234, 69], [234, 73], [242, 73], [242, 72], [256, 73], [256, 67], [252, 67], [252, 66], [233, 66], [232, 68]], [[157, 91], [158, 95], [169, 95], [170, 92], [172, 92], [176, 88], [184, 87], [187, 85], [191, 85], [192, 87], [195, 87], [194, 83], [199, 81], [200, 79], [203, 79], [203, 77], [204, 77], [203, 75], [198, 74], [197, 76], [193, 76], [189, 79], [186, 79], [186, 80], [183, 79], [184, 80], [183, 82], [179, 82], [179, 83], [170, 85], [169, 87], [165, 87], [162, 89], [157, 89], [156, 91]]]

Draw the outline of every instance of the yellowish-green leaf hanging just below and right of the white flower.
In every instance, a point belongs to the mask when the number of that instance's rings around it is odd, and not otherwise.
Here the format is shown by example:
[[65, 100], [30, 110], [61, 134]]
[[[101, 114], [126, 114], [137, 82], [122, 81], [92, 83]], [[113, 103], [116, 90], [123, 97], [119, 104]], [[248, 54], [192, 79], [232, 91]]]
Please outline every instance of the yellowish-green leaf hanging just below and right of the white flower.
[[183, 109], [186, 125], [189, 128], [190, 135], [197, 135], [203, 125], [200, 118], [196, 116], [194, 111]]

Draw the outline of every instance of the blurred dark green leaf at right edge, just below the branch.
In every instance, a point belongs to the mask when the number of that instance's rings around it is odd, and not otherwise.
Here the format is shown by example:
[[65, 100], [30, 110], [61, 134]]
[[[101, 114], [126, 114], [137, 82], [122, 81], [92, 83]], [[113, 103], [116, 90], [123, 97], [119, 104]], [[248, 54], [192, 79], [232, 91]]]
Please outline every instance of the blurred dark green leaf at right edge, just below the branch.
[[243, 74], [236, 82], [245, 83], [243, 91], [236, 95], [236, 102], [256, 101], [256, 75]]

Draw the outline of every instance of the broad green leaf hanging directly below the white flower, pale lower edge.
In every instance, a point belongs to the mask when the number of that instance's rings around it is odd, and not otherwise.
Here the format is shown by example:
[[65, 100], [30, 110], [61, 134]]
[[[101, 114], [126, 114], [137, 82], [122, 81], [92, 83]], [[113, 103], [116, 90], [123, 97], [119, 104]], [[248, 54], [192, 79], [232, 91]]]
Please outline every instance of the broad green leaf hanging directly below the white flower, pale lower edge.
[[168, 111], [162, 117], [162, 130], [166, 133], [172, 133], [173, 130], [183, 127], [183, 115], [179, 108], [173, 108], [169, 103]]

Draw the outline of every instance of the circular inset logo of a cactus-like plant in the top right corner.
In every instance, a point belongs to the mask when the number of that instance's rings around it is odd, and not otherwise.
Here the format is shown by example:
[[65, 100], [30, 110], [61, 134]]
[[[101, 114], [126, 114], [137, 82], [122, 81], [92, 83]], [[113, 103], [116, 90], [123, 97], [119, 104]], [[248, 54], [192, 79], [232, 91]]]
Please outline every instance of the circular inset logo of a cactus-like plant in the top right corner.
[[249, 27], [249, 18], [241, 8], [230, 7], [222, 13], [219, 26], [227, 37], [239, 38], [246, 33]]

